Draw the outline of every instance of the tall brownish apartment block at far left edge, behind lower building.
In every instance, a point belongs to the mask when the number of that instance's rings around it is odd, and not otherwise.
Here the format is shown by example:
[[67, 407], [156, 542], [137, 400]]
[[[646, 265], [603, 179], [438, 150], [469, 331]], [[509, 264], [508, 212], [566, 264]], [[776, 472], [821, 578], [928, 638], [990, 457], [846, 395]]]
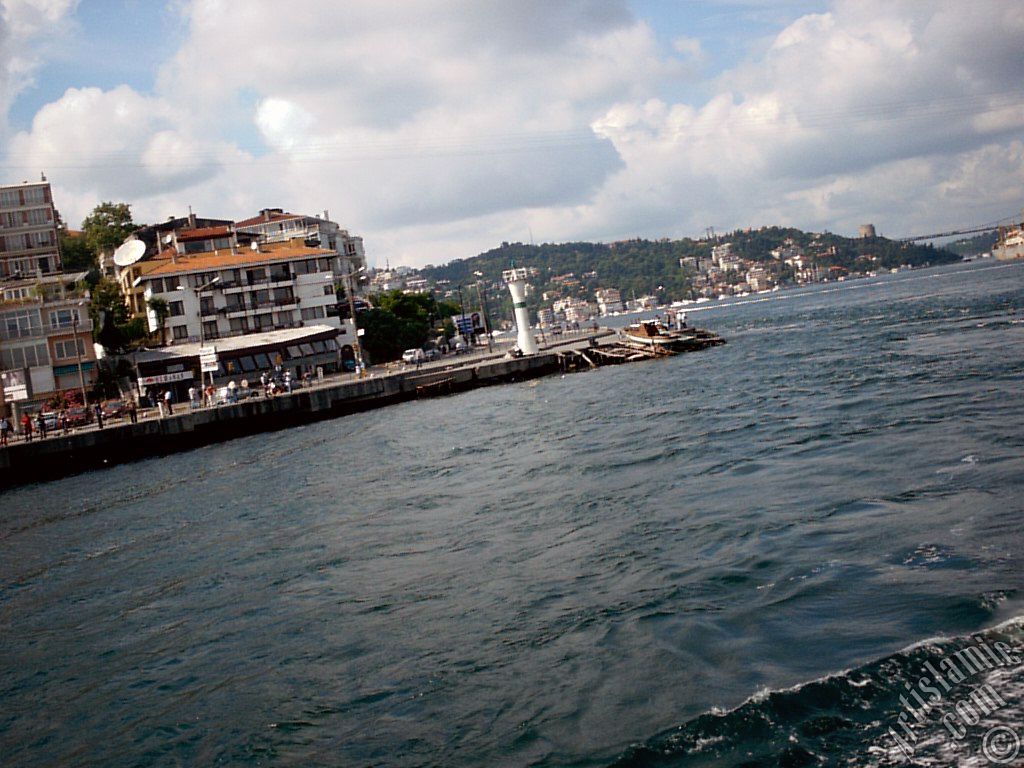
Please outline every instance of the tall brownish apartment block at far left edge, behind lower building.
[[0, 186], [0, 278], [60, 271], [57, 212], [50, 184]]

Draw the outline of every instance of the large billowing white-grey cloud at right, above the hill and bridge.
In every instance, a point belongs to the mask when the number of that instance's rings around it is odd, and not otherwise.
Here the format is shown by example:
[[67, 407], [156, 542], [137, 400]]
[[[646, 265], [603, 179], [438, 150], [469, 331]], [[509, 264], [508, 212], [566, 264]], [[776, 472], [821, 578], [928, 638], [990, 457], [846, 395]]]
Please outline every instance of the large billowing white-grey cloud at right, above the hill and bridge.
[[995, 172], [1001, 159], [1009, 172], [995, 177], [1021, 188], [1022, 35], [1024, 6], [1012, 1], [841, 2], [803, 16], [700, 108], [624, 102], [596, 120], [626, 169], [588, 207], [584, 229], [633, 218], [676, 233], [849, 230], [873, 218], [909, 233], [962, 220], [948, 195], [965, 179], [978, 184], [981, 223], [1012, 213], [966, 169], [983, 157]]

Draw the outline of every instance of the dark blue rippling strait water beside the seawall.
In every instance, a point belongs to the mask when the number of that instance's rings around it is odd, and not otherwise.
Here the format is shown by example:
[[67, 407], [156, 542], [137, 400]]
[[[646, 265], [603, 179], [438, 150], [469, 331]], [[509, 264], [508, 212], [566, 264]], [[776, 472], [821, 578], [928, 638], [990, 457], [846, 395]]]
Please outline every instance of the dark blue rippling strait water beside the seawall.
[[[759, 298], [5, 493], [0, 765], [906, 764], [923, 665], [1024, 645], [1024, 265]], [[1024, 671], [940, 699], [910, 764], [987, 765]]]

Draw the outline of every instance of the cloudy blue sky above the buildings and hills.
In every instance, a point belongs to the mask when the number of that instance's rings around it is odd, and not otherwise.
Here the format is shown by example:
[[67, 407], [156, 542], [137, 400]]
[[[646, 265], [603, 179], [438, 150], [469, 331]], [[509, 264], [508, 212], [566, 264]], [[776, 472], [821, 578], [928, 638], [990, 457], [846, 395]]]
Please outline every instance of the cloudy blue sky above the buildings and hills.
[[0, 182], [328, 211], [375, 266], [924, 234], [1020, 215], [1021, 40], [1020, 0], [0, 0]]

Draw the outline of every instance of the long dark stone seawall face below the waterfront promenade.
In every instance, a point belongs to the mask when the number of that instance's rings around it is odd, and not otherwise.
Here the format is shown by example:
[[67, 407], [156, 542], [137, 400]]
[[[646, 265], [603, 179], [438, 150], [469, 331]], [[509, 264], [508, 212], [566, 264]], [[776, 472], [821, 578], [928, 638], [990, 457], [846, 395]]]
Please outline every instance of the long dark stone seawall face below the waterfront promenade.
[[333, 419], [402, 400], [524, 381], [560, 370], [557, 353], [403, 372], [185, 411], [138, 424], [117, 423], [0, 449], [0, 488], [166, 456], [244, 435]]

